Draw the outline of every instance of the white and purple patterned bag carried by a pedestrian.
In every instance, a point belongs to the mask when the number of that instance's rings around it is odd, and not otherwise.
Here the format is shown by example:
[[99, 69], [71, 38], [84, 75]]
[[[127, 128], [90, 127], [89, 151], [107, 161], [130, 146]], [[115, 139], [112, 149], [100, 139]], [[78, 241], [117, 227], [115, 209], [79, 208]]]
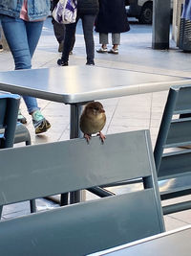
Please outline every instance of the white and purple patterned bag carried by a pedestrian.
[[77, 0], [59, 0], [53, 9], [53, 18], [57, 23], [74, 23], [77, 12]]

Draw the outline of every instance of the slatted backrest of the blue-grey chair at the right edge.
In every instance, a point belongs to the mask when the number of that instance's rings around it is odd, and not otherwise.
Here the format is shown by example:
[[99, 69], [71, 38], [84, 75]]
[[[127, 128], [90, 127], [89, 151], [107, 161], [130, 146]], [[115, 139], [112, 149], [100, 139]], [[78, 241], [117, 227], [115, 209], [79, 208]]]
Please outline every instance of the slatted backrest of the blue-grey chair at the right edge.
[[[188, 117], [182, 118], [183, 114]], [[163, 153], [165, 149], [187, 145], [191, 145], [191, 85], [173, 86], [169, 90], [154, 151], [159, 180], [191, 174], [191, 151]]]

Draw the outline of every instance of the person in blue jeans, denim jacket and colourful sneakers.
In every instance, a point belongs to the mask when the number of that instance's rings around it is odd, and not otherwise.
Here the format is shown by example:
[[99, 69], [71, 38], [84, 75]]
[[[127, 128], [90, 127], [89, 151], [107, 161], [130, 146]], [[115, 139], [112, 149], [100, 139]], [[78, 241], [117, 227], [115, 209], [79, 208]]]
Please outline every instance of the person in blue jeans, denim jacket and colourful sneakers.
[[[1, 1], [0, 19], [4, 34], [11, 49], [15, 70], [32, 68], [32, 56], [42, 32], [43, 21], [50, 14], [50, 0]], [[23, 96], [28, 112], [32, 115], [35, 133], [51, 128], [42, 115], [35, 98]], [[26, 123], [19, 112], [18, 118]]]

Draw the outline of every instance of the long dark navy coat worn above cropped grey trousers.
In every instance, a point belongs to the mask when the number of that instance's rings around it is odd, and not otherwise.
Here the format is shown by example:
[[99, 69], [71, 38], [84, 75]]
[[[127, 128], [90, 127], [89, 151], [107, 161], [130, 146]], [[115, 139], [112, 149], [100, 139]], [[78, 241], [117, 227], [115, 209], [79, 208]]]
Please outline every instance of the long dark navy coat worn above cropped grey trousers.
[[119, 34], [129, 30], [125, 0], [99, 0], [96, 32]]

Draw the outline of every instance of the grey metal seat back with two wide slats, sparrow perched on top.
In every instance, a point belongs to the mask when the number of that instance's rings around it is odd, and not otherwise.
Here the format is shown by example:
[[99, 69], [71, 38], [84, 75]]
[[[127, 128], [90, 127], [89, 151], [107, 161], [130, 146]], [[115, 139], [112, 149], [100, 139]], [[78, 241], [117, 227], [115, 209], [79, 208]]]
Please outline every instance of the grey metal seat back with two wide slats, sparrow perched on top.
[[[24, 163], [20, 164], [20, 156]], [[11, 161], [10, 161], [11, 159]], [[0, 205], [142, 178], [138, 191], [0, 221], [1, 255], [86, 255], [164, 231], [149, 131], [0, 151]]]

